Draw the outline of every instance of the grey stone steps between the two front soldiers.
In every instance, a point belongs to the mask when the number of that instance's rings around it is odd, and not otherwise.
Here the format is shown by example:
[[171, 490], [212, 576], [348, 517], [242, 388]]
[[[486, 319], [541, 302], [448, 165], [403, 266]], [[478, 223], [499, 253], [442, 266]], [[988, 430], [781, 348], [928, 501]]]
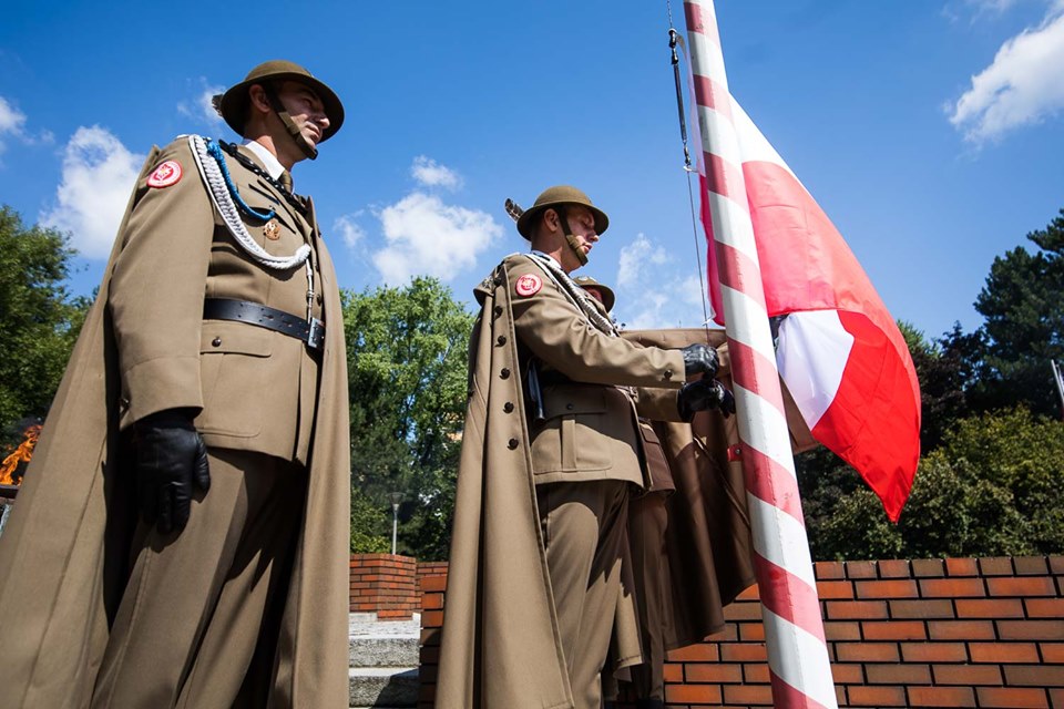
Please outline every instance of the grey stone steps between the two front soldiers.
[[418, 648], [421, 616], [378, 620], [352, 613], [349, 623], [351, 709], [409, 709], [418, 706]]

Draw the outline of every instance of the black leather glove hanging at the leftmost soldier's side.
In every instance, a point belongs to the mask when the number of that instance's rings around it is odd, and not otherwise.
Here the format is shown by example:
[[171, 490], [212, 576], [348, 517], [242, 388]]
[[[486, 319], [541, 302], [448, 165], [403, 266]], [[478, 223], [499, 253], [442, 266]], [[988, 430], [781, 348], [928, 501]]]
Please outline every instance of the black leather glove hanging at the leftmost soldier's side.
[[192, 511], [193, 486], [211, 487], [207, 446], [192, 417], [160, 411], [133, 424], [136, 504], [141, 516], [161, 534], [181, 532]]

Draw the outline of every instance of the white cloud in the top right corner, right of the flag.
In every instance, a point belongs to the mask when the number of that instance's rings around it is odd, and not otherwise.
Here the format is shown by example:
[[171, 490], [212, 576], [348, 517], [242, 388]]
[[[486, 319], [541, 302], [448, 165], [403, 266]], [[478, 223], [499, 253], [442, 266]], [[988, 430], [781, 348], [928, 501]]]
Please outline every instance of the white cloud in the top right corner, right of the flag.
[[994, 61], [948, 106], [950, 123], [976, 145], [1064, 109], [1064, 0], [1036, 28], [1002, 44]]

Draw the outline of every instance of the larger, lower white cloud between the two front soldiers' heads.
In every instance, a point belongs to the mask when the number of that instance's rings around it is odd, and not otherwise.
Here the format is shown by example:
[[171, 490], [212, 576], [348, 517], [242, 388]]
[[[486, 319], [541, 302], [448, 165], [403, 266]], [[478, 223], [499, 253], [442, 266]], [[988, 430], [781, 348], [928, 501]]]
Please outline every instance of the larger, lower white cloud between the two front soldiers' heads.
[[443, 204], [413, 192], [378, 214], [387, 246], [372, 260], [386, 284], [412, 276], [450, 280], [477, 265], [477, 257], [502, 236], [502, 227], [485, 212]]

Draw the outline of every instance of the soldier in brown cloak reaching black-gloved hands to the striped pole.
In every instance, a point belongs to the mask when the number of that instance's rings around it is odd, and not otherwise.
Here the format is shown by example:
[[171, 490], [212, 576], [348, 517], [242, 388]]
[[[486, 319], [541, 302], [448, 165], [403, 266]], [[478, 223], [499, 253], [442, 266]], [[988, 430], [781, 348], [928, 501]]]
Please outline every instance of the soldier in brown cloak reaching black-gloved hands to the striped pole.
[[[627, 342], [570, 278], [607, 225], [583, 192], [546, 189], [518, 217], [532, 253], [507, 257], [475, 291], [443, 709], [598, 709], [611, 637], [618, 664], [638, 661], [622, 585], [628, 491], [646, 472], [636, 407], [678, 419], [724, 390], [713, 349]], [[693, 376], [707, 379], [685, 384]]]

